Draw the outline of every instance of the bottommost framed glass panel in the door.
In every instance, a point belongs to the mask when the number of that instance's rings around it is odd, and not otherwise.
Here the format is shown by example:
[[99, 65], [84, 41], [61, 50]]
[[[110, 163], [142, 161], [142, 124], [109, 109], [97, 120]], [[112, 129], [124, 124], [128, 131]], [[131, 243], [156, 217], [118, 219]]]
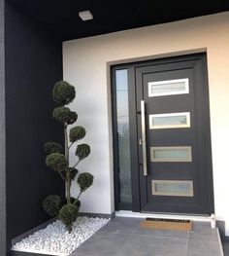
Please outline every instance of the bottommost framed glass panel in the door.
[[152, 180], [152, 195], [193, 197], [191, 180]]

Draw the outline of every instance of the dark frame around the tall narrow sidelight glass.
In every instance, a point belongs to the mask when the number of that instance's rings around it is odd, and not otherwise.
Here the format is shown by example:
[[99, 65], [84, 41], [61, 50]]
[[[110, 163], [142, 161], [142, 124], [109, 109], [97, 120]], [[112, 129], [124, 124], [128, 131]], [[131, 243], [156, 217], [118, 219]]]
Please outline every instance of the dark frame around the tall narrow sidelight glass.
[[[137, 137], [137, 117], [136, 117], [136, 90], [134, 74], [134, 64], [120, 64], [110, 67], [112, 86], [112, 114], [113, 114], [113, 148], [114, 148], [114, 183], [115, 183], [115, 210], [140, 211], [140, 185], [139, 185], [139, 162], [138, 162], [138, 137]], [[118, 132], [117, 132], [117, 112], [116, 112], [116, 87], [115, 71], [126, 69], [128, 74], [128, 104], [129, 104], [129, 145], [130, 145], [130, 166], [131, 166], [131, 187], [132, 202], [124, 203], [120, 201], [120, 181], [119, 181], [119, 156], [118, 156]], [[133, 189], [134, 188], [134, 189]]]

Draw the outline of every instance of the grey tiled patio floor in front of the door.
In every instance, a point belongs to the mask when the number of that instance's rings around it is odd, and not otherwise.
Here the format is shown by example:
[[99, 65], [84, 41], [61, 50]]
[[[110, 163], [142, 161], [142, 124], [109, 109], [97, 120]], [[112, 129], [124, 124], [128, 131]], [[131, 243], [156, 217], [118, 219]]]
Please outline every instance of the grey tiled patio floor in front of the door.
[[194, 223], [191, 232], [140, 228], [142, 219], [115, 218], [86, 240], [74, 256], [221, 256], [216, 230]]

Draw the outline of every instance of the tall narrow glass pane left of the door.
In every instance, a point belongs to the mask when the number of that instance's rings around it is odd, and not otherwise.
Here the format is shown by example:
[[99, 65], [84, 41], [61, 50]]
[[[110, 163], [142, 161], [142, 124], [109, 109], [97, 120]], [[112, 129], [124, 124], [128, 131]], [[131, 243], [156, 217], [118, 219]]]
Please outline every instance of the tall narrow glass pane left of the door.
[[132, 202], [127, 69], [115, 70], [120, 202]]

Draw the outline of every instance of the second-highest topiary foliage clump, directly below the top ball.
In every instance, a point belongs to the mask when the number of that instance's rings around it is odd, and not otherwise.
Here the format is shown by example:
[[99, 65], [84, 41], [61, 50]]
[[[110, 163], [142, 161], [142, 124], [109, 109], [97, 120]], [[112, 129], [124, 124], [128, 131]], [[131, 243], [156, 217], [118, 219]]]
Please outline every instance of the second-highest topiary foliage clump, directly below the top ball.
[[74, 124], [78, 115], [76, 112], [71, 111], [68, 107], [57, 107], [52, 112], [52, 117], [59, 123], [66, 123], [67, 125]]

